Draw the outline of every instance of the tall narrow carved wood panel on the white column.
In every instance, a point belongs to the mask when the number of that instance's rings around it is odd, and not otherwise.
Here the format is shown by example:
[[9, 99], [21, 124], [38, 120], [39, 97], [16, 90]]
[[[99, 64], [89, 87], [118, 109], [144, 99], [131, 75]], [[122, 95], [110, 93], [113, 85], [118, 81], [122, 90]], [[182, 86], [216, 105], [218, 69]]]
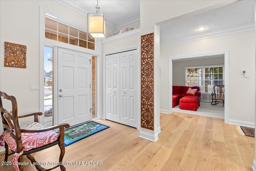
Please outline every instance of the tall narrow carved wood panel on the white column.
[[154, 130], [154, 33], [141, 36], [141, 127]]

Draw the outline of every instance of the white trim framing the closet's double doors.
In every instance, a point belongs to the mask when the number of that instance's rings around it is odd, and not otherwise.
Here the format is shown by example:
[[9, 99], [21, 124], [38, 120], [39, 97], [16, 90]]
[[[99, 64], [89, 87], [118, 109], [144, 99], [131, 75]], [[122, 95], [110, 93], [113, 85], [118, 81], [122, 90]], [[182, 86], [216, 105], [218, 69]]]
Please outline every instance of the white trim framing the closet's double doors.
[[[103, 54], [103, 117], [102, 119], [106, 119], [106, 55], [110, 55], [110, 54], [115, 54], [115, 53], [121, 53], [121, 52], [125, 52], [125, 51], [130, 51], [130, 50], [138, 50], [138, 103], [141, 103], [141, 95], [140, 95], [140, 70], [141, 70], [141, 66], [140, 66], [140, 46], [132, 46], [130, 48], [124, 48], [124, 49], [120, 49], [120, 50], [114, 50], [111, 52], [104, 52]], [[141, 108], [138, 106], [138, 125], [137, 125], [137, 129], [140, 130], [140, 111]]]

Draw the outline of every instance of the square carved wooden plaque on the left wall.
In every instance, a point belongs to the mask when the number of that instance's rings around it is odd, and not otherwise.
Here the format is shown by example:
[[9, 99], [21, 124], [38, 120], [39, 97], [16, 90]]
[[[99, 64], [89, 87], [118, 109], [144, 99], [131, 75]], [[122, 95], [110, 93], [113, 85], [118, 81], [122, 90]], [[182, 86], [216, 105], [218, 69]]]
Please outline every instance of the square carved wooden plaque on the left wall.
[[4, 42], [4, 66], [26, 68], [27, 46]]

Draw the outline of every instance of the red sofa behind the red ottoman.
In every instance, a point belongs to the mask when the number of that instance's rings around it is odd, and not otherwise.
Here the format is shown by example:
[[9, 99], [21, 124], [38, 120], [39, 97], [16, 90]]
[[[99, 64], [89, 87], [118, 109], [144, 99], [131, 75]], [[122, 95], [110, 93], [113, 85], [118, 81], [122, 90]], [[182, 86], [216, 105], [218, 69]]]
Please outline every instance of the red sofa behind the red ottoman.
[[[187, 94], [188, 88], [189, 88], [188, 86], [177, 86], [177, 85], [172, 86], [172, 107], [179, 105], [180, 98], [185, 97], [187, 95], [192, 95], [192, 94]], [[197, 91], [194, 94], [195, 96], [198, 96], [198, 97], [201, 96], [200, 87], [193, 86], [190, 88], [197, 89]]]

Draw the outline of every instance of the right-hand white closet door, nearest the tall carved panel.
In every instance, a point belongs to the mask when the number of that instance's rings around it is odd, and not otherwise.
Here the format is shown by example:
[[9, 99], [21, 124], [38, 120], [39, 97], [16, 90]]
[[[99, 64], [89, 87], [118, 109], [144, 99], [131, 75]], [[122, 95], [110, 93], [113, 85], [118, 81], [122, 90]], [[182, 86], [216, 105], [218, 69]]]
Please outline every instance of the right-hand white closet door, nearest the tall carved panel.
[[138, 52], [120, 53], [120, 123], [138, 127]]

